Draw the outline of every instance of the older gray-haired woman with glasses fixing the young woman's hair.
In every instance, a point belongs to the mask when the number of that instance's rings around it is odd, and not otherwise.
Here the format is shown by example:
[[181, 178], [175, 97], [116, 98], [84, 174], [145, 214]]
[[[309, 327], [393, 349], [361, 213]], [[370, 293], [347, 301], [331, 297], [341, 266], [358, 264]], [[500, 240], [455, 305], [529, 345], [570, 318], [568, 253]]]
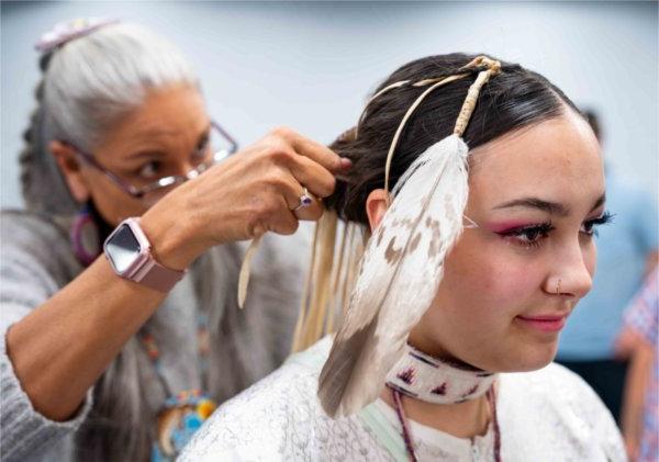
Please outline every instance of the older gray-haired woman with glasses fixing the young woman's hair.
[[214, 165], [235, 143], [142, 27], [40, 47], [27, 210], [2, 212], [2, 460], [169, 459], [290, 346], [299, 257], [267, 238], [239, 312], [235, 243], [316, 219], [350, 162], [281, 128]]

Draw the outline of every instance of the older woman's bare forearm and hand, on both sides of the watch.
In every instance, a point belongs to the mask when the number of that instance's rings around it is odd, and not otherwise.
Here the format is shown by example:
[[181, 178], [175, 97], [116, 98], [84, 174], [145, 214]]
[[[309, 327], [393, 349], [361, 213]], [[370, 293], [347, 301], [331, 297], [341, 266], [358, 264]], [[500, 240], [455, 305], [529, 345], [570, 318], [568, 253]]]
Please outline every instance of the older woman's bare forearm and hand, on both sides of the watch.
[[[304, 188], [316, 198], [331, 194], [335, 174], [348, 167], [326, 147], [279, 128], [171, 191], [144, 214], [142, 227], [156, 259], [183, 269], [211, 246], [268, 230], [291, 234], [298, 219], [317, 219], [320, 201], [292, 209]], [[14, 324], [8, 354], [34, 408], [54, 420], [69, 418], [165, 296], [118, 278], [98, 258]]]

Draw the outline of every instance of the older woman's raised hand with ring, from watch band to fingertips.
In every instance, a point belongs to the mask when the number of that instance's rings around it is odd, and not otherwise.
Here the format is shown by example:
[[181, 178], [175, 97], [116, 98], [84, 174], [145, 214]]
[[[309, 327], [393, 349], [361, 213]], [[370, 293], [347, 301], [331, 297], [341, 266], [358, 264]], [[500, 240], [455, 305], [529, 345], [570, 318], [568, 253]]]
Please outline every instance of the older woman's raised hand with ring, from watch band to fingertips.
[[299, 219], [319, 219], [320, 200], [293, 212], [304, 188], [326, 198], [335, 176], [349, 167], [327, 147], [277, 128], [167, 194], [145, 213], [142, 226], [156, 259], [182, 269], [212, 246], [266, 232], [293, 234]]

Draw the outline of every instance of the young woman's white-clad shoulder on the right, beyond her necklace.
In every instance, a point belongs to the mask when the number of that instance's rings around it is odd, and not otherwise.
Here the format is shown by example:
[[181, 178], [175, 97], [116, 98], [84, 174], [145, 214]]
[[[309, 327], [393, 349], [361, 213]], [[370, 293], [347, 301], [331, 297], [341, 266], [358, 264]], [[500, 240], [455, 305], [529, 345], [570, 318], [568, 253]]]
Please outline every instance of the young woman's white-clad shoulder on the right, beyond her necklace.
[[538, 371], [502, 374], [502, 426], [511, 427], [518, 451], [532, 438], [538, 453], [551, 451], [583, 461], [624, 461], [615, 420], [595, 392], [576, 373], [551, 363]]

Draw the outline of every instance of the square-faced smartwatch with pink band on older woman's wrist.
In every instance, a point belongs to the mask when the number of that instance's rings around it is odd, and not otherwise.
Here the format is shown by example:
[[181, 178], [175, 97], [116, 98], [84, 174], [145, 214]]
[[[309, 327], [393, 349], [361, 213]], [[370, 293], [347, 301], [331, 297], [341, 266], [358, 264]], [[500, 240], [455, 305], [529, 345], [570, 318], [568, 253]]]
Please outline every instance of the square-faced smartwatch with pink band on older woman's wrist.
[[160, 292], [169, 292], [186, 271], [161, 266], [154, 259], [150, 249], [150, 243], [136, 217], [121, 222], [103, 244], [103, 252], [118, 275]]

